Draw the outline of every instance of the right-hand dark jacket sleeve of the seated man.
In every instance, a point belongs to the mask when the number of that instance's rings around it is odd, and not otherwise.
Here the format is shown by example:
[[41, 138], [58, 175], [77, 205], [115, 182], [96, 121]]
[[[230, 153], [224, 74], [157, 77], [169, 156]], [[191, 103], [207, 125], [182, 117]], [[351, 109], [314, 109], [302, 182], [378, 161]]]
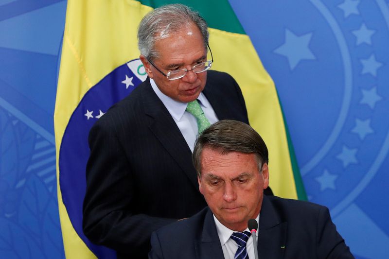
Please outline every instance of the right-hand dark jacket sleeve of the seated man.
[[317, 223], [317, 258], [326, 259], [354, 259], [350, 248], [336, 231], [327, 207], [321, 207]]

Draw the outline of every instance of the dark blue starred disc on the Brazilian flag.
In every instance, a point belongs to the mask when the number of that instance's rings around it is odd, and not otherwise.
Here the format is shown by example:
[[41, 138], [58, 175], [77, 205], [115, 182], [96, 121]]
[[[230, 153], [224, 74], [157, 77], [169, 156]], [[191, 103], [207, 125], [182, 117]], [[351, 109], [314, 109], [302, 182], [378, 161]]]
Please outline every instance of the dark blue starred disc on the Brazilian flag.
[[104, 116], [109, 107], [130, 94], [146, 78], [147, 74], [140, 59], [131, 60], [114, 69], [84, 95], [72, 113], [62, 138], [59, 150], [59, 184], [62, 200], [78, 236], [98, 258], [102, 258], [103, 255], [104, 258], [115, 258], [116, 252], [92, 244], [82, 230], [89, 130], [101, 116]]

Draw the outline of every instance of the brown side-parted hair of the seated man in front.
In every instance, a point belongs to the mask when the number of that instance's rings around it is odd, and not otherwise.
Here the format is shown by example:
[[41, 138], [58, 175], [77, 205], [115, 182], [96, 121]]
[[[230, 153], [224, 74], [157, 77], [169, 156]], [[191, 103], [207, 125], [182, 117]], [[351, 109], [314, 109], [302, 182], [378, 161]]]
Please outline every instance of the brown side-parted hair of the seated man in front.
[[241, 121], [223, 120], [212, 124], [196, 139], [192, 161], [198, 176], [201, 176], [201, 153], [204, 148], [217, 150], [225, 155], [230, 152], [255, 154], [258, 170], [269, 163], [265, 141], [248, 124]]

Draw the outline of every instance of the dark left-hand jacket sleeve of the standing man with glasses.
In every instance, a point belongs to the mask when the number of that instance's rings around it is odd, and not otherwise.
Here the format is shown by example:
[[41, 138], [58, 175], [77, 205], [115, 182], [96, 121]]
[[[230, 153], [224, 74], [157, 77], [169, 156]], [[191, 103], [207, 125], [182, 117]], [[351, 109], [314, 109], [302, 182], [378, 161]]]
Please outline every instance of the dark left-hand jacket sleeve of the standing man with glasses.
[[176, 220], [133, 211], [136, 183], [128, 172], [122, 143], [107, 124], [96, 123], [89, 133], [91, 151], [83, 205], [84, 233], [91, 242], [120, 254], [146, 257], [151, 233]]

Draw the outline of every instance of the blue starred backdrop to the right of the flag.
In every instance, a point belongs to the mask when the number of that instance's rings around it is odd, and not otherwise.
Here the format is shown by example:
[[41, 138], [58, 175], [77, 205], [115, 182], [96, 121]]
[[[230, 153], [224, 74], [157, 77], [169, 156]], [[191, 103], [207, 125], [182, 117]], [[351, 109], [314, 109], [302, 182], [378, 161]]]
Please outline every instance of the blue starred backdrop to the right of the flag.
[[388, 1], [230, 2], [277, 86], [309, 200], [342, 235], [363, 222], [374, 249], [352, 248], [385, 257], [387, 208], [375, 197], [388, 181]]

